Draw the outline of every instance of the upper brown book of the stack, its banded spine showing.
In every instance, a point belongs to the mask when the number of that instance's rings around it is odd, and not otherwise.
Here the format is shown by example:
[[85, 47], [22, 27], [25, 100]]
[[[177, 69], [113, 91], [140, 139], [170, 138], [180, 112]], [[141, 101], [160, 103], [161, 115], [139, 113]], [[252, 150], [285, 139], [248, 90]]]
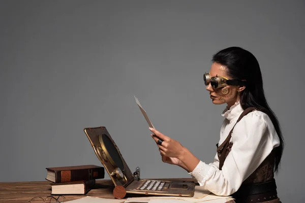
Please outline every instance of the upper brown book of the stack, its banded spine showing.
[[66, 183], [73, 181], [87, 181], [102, 179], [105, 169], [97, 165], [77, 165], [64, 167], [48, 167], [46, 180], [53, 183]]

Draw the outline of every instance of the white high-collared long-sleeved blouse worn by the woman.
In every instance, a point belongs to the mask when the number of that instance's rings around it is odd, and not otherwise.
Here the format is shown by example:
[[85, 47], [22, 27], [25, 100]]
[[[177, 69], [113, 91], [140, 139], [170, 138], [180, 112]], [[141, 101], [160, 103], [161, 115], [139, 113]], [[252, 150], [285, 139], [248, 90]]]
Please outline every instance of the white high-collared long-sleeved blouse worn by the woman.
[[[224, 110], [222, 116], [225, 120], [221, 127], [219, 145], [227, 138], [242, 112], [239, 103]], [[216, 195], [228, 196], [236, 192], [272, 149], [280, 145], [279, 136], [270, 118], [260, 111], [247, 114], [236, 124], [230, 142], [233, 146], [221, 171], [216, 154], [213, 163], [200, 161], [193, 172], [189, 173], [200, 186]]]

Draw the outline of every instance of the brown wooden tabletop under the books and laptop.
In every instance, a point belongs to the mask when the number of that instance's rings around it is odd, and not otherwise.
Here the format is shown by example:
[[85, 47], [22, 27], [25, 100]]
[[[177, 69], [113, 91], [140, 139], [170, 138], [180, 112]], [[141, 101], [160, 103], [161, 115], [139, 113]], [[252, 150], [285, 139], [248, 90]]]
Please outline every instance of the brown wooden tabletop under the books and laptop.
[[[183, 180], [194, 181], [191, 178], [180, 179], [159, 179], [159, 180]], [[95, 187], [85, 195], [64, 195], [65, 201], [79, 199], [85, 196], [102, 197], [113, 199], [112, 194], [114, 185], [111, 180], [97, 180]], [[40, 196], [45, 198], [51, 193], [51, 185], [49, 181], [36, 182], [5, 182], [0, 183], [0, 202], [28, 202], [27, 200]], [[56, 195], [53, 195], [56, 196]], [[143, 196], [137, 194], [127, 194], [127, 197]], [[124, 199], [122, 199], [124, 201]]]

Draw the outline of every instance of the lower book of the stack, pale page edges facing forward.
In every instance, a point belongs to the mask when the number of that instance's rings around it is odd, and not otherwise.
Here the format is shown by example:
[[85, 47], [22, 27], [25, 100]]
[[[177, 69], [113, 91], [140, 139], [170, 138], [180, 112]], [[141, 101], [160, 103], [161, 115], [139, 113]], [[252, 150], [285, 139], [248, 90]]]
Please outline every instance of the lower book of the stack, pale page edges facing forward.
[[95, 180], [52, 183], [51, 194], [86, 194], [95, 185]]

